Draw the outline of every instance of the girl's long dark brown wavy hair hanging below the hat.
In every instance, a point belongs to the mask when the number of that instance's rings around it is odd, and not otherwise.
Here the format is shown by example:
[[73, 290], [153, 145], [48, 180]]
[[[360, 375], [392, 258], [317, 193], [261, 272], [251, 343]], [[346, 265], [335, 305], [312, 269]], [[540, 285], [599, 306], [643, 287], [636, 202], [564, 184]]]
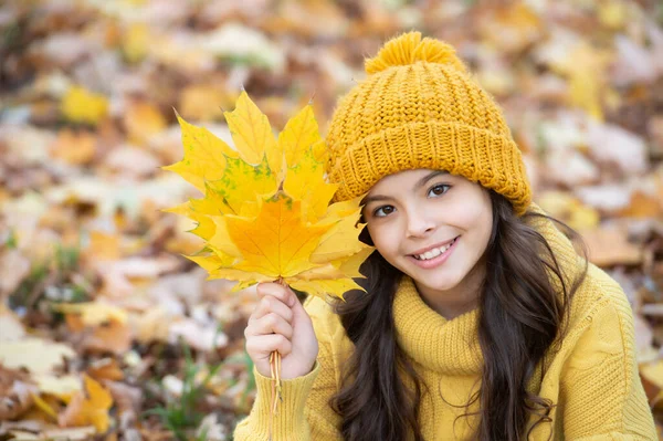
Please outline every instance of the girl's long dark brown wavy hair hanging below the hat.
[[[511, 203], [490, 190], [493, 230], [485, 251], [486, 279], [480, 293], [478, 342], [484, 366], [481, 388], [464, 407], [480, 400], [473, 439], [520, 441], [541, 422], [550, 422], [550, 400], [527, 391], [537, 369], [545, 372], [545, 356], [564, 335], [570, 300], [587, 273], [564, 273], [546, 239], [529, 224], [546, 218], [579, 243], [565, 223], [534, 211], [517, 218]], [[367, 229], [360, 239], [372, 244]], [[355, 344], [343, 377], [341, 390], [330, 403], [341, 417], [347, 441], [423, 440], [418, 422], [422, 381], [397, 345], [393, 296], [402, 273], [373, 252], [361, 266], [364, 292], [350, 292], [335, 311]], [[400, 375], [409, 376], [413, 387]], [[530, 416], [538, 420], [527, 430]], [[460, 417], [459, 417], [460, 418]]]

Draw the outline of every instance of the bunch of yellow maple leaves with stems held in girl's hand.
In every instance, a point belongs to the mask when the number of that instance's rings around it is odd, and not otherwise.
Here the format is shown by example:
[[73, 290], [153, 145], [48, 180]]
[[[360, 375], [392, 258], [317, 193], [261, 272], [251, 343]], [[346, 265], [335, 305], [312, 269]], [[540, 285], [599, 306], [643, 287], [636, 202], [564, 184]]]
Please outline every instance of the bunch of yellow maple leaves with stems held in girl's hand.
[[[361, 197], [330, 203], [337, 186], [326, 179], [328, 154], [311, 103], [277, 139], [244, 91], [224, 116], [234, 148], [177, 115], [185, 157], [164, 168], [204, 195], [166, 210], [197, 222], [191, 232], [204, 246], [187, 258], [209, 279], [238, 281], [234, 292], [273, 281], [322, 297], [361, 290], [352, 277], [362, 277], [359, 265], [373, 251], [358, 239]], [[280, 360], [273, 353], [272, 416]]]

